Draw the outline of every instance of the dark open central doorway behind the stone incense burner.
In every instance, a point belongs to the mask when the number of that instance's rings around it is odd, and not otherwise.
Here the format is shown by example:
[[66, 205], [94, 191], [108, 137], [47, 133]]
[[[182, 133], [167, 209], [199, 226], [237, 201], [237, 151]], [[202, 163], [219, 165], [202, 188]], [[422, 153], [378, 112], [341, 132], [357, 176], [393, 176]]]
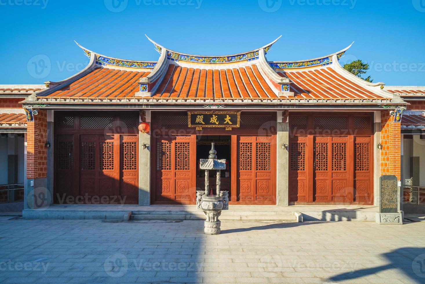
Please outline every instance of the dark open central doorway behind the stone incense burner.
[[[232, 140], [230, 135], [198, 135], [196, 136], [196, 190], [205, 190], [205, 172], [199, 169], [199, 159], [208, 159], [211, 143], [215, 143], [218, 159], [226, 159], [226, 170], [221, 171], [221, 190], [229, 191], [230, 198], [230, 157]], [[215, 194], [216, 173], [210, 172], [210, 188]]]

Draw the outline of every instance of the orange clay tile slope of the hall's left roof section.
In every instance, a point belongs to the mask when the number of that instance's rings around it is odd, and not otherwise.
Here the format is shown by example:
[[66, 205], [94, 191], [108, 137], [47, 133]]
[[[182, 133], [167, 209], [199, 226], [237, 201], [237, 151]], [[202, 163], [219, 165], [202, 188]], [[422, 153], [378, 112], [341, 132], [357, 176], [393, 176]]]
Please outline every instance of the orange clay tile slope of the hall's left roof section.
[[45, 97], [51, 98], [127, 98], [139, 91], [139, 79], [149, 72], [98, 68], [68, 87]]

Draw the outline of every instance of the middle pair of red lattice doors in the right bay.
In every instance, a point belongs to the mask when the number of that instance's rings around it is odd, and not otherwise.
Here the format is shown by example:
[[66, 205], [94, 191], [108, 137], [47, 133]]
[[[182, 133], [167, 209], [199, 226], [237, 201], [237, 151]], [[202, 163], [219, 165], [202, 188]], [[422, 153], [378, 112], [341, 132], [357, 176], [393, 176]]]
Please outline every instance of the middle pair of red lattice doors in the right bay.
[[352, 202], [348, 189], [347, 149], [347, 136], [314, 137], [314, 201]]

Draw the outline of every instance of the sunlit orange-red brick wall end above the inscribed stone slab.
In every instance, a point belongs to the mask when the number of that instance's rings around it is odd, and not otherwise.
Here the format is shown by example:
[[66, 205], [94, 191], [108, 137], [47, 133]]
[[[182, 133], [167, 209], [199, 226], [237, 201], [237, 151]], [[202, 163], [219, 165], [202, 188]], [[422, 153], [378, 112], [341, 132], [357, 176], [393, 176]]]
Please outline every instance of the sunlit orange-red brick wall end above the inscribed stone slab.
[[400, 122], [394, 122], [390, 111], [381, 111], [381, 175], [394, 175], [400, 179]]

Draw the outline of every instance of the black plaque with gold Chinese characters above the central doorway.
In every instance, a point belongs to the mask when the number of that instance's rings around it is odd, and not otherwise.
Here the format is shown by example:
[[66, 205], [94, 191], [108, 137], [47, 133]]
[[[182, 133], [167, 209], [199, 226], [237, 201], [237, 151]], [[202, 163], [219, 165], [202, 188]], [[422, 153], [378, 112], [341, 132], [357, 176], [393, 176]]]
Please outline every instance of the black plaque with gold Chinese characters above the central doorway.
[[203, 127], [225, 127], [232, 130], [241, 124], [240, 111], [188, 111], [187, 125], [202, 130]]

